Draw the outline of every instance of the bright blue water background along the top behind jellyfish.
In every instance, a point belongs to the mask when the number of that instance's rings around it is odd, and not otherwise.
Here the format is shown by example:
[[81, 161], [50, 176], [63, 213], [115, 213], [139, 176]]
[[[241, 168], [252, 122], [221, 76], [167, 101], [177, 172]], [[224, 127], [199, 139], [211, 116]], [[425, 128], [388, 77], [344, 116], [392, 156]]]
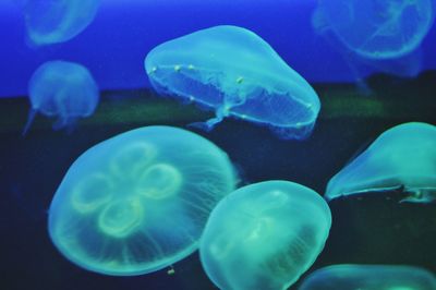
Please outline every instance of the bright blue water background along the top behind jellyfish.
[[[220, 24], [254, 31], [311, 83], [355, 78], [341, 52], [314, 33], [311, 17], [315, 0], [104, 0], [95, 21], [77, 37], [40, 48], [26, 45], [17, 2], [0, 3], [0, 97], [26, 95], [36, 68], [53, 59], [84, 64], [100, 89], [147, 87], [143, 61], [150, 49]], [[424, 39], [422, 51], [423, 70], [435, 69], [435, 27]]]

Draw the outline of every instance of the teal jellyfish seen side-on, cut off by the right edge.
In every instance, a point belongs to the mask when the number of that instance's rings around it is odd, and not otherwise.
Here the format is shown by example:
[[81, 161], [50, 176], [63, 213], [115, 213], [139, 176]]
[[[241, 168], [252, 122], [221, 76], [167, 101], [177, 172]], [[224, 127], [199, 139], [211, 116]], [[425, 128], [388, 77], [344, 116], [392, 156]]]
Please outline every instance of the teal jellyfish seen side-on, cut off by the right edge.
[[436, 200], [436, 126], [411, 122], [384, 132], [337, 173], [325, 197], [399, 191], [402, 202]]

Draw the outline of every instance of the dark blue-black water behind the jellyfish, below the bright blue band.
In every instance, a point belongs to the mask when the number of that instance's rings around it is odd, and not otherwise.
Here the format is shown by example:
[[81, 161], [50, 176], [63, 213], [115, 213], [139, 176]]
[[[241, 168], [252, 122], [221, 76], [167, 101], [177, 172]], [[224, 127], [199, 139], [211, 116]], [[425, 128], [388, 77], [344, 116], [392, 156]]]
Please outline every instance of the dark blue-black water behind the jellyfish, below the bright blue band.
[[[368, 95], [353, 85], [315, 85], [323, 108], [311, 138], [281, 141], [266, 128], [226, 120], [196, 131], [226, 150], [241, 184], [284, 179], [323, 194], [328, 180], [365, 144], [403, 122], [436, 124], [436, 73], [416, 80], [368, 80]], [[105, 92], [96, 114], [71, 133], [53, 132], [38, 117], [21, 137], [27, 100], [0, 100], [0, 289], [215, 289], [197, 254], [166, 270], [138, 277], [93, 274], [66, 261], [51, 244], [47, 209], [70, 165], [87, 148], [148, 124], [183, 126], [210, 114], [138, 90]], [[195, 131], [195, 130], [194, 130]], [[339, 263], [408, 264], [436, 273], [436, 205], [399, 204], [376, 195], [330, 204], [332, 227], [312, 271]]]

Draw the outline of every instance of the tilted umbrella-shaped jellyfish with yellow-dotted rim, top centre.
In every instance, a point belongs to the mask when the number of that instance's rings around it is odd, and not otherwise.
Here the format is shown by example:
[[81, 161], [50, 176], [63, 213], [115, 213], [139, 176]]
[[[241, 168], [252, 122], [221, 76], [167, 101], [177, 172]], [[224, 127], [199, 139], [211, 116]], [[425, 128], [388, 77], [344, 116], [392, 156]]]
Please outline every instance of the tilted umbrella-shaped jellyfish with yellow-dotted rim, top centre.
[[210, 130], [233, 116], [269, 126], [282, 138], [313, 131], [319, 99], [311, 85], [259, 36], [215, 26], [164, 43], [145, 58], [153, 87], [214, 109]]

